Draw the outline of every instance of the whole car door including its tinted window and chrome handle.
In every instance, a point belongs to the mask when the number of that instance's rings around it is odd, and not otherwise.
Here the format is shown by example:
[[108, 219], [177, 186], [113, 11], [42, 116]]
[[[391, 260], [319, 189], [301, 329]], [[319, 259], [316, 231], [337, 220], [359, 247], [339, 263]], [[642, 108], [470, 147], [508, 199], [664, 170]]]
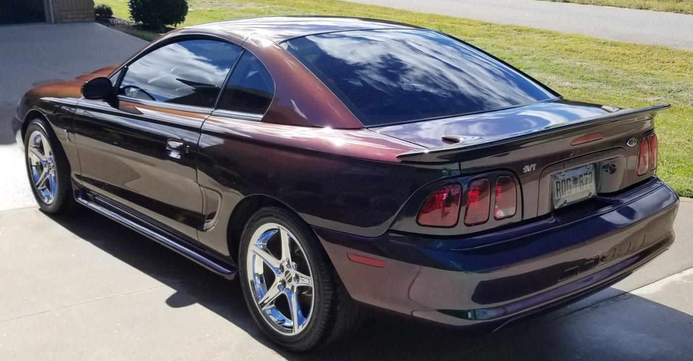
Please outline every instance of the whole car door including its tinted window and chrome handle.
[[80, 100], [74, 129], [83, 186], [197, 239], [200, 128], [239, 53], [213, 39], [164, 44], [121, 69], [116, 102]]

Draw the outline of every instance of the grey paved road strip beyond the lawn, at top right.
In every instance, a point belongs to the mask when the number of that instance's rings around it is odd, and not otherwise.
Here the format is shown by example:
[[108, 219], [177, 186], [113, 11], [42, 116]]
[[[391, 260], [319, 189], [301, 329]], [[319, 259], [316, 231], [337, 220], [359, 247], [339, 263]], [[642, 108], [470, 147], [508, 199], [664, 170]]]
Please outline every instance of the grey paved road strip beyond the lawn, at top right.
[[537, 0], [347, 0], [693, 50], [693, 15]]

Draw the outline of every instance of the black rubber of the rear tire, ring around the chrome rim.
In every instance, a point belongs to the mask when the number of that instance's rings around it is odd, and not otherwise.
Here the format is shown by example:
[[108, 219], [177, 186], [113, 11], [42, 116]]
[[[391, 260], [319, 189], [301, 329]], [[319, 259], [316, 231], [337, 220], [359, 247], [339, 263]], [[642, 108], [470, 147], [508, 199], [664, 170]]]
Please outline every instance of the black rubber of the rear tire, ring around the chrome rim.
[[[324, 317], [329, 314], [328, 310], [325, 308], [330, 307], [328, 303], [324, 302], [324, 283], [330, 282], [331, 280], [325, 279], [326, 277], [321, 276], [326, 274], [324, 265], [320, 265], [318, 259], [322, 258], [321, 255], [317, 255], [315, 252], [316, 245], [311, 244], [317, 242], [317, 238], [310, 233], [309, 229], [306, 227], [301, 227], [303, 225], [300, 221], [295, 222], [292, 220], [292, 214], [288, 211], [284, 211], [278, 207], [270, 207], [267, 209], [262, 209], [255, 213], [247, 223], [245, 230], [243, 231], [243, 238], [240, 242], [239, 249], [239, 277], [241, 288], [243, 289], [243, 298], [248, 306], [248, 309], [255, 320], [265, 334], [270, 337], [277, 344], [290, 349], [292, 351], [305, 351], [307, 349], [312, 349], [316, 344], [320, 342], [322, 334], [324, 334], [324, 325], [327, 323]], [[296, 241], [304, 249], [306, 258], [308, 258], [308, 263], [310, 265], [310, 271], [313, 274], [313, 311], [310, 315], [310, 320], [308, 321], [308, 326], [301, 331], [298, 335], [283, 335], [278, 331], [274, 330], [272, 326], [268, 325], [260, 311], [258, 310], [255, 300], [253, 298], [252, 292], [250, 290], [249, 281], [246, 276], [247, 269], [247, 249], [252, 242], [250, 239], [256, 229], [266, 223], [277, 223], [286, 227], [297, 239]], [[299, 224], [297, 224], [299, 223]], [[311, 242], [312, 241], [312, 242]], [[322, 250], [322, 249], [319, 249]], [[324, 260], [323, 260], [324, 261]], [[327, 271], [328, 272], [328, 271]]]

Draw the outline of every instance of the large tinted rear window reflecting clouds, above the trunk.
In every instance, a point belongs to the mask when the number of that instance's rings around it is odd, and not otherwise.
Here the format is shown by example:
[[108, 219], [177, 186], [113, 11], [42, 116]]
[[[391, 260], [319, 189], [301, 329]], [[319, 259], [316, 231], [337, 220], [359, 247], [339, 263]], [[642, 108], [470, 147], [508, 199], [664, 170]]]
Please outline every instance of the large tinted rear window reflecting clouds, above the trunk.
[[548, 89], [432, 30], [357, 30], [290, 39], [287, 51], [365, 126], [536, 103]]

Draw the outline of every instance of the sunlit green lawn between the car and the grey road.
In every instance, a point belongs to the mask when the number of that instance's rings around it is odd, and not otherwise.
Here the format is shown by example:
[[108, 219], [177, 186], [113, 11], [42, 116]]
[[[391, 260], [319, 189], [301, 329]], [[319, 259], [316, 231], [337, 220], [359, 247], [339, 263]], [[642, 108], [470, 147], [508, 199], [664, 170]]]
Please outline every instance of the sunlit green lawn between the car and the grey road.
[[[100, 0], [103, 1], [103, 0]], [[99, 0], [97, 0], [97, 3]], [[126, 0], [106, 0], [128, 17]], [[493, 53], [566, 98], [660, 113], [658, 175], [693, 197], [693, 52], [334, 0], [191, 0], [184, 25], [263, 15], [352, 15], [441, 30]]]

